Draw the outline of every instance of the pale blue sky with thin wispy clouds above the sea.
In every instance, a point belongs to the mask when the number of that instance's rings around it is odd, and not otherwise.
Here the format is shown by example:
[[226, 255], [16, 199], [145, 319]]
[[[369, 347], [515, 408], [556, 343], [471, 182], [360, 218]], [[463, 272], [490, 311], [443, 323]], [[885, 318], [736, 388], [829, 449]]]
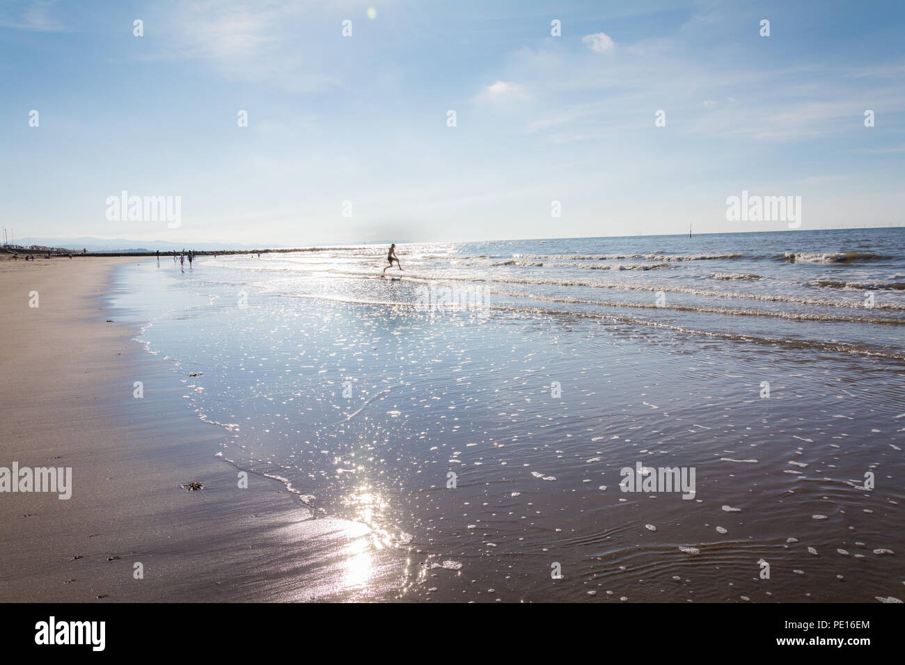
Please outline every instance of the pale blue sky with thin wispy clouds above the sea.
[[[747, 191], [800, 196], [802, 230], [902, 225], [903, 34], [899, 0], [5, 0], [0, 223], [258, 246], [788, 229], [728, 220]], [[178, 223], [111, 219], [123, 191], [178, 197]]]

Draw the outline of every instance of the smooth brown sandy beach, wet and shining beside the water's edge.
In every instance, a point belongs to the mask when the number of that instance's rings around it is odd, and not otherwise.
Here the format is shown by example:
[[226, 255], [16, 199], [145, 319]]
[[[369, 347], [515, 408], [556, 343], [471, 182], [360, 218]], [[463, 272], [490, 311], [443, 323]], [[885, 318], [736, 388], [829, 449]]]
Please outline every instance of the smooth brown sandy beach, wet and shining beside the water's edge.
[[73, 486], [0, 493], [0, 602], [395, 598], [403, 564], [367, 527], [310, 518], [275, 480], [239, 489], [214, 457], [223, 430], [104, 298], [139, 261], [154, 259], [0, 260], [0, 467], [71, 467]]

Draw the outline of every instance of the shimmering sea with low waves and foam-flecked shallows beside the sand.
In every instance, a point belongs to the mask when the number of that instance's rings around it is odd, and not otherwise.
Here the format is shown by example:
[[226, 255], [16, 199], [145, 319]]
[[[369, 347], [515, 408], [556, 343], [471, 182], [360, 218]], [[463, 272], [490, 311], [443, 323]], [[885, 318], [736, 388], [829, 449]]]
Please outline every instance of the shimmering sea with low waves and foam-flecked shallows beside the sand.
[[[118, 304], [212, 454], [363, 525], [366, 597], [382, 548], [404, 599], [873, 601], [905, 582], [905, 294], [863, 285], [905, 281], [903, 240], [403, 245], [402, 280], [386, 247], [161, 260]], [[658, 267], [583, 267], [619, 263]], [[622, 491], [639, 463], [693, 498]]]

